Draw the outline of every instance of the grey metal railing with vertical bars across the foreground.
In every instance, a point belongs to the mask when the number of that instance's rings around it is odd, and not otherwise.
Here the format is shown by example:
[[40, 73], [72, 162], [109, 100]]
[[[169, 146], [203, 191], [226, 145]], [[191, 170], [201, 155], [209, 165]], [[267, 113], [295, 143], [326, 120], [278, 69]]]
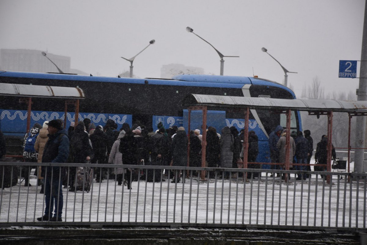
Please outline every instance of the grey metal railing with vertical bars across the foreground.
[[[30, 173], [34, 164], [0, 162], [1, 187], [5, 187], [7, 181], [12, 182], [15, 171], [26, 169]], [[42, 225], [255, 225], [366, 230], [367, 174], [362, 173], [87, 163], [37, 165], [48, 167], [51, 174], [46, 174], [46, 179], [56, 178], [60, 187], [63, 178], [70, 182], [72, 169], [79, 171], [74, 181], [83, 183], [83, 187], [75, 184], [72, 191], [57, 189], [62, 190], [63, 196], [62, 222], [38, 222]], [[65, 168], [65, 176], [61, 171], [54, 172], [53, 167], [60, 166]], [[88, 183], [87, 171], [93, 168], [99, 175], [97, 180]], [[132, 181], [130, 189], [119, 185], [119, 176], [112, 173], [117, 169], [124, 170], [123, 180]], [[133, 171], [125, 171], [130, 169]], [[203, 170], [205, 180], [200, 179]], [[183, 173], [181, 179], [179, 172]], [[169, 177], [172, 173], [173, 181]], [[277, 173], [288, 173], [291, 177], [282, 180]], [[246, 174], [248, 177], [244, 178]], [[306, 175], [310, 177], [304, 179]], [[80, 176], [82, 180], [77, 180]], [[330, 176], [331, 184], [327, 184], [325, 176]], [[349, 182], [347, 177], [350, 177]], [[19, 181], [22, 179], [22, 171], [19, 171], [14, 186], [1, 188], [0, 224], [34, 224], [37, 217], [44, 215], [45, 195], [39, 193], [36, 176], [31, 175], [32, 186], [23, 186]], [[149, 182], [150, 179], [156, 181]], [[59, 215], [58, 210], [56, 212], [54, 216]]]

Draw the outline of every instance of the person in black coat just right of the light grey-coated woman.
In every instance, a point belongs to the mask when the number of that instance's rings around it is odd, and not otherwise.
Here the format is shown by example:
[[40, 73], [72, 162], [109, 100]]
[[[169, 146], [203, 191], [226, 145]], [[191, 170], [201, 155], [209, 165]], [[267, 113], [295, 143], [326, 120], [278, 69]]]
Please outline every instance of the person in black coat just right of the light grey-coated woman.
[[[131, 130], [128, 130], [120, 141], [119, 151], [122, 154], [122, 164], [136, 165], [136, 145], [134, 134]], [[132, 170], [126, 169], [125, 179], [127, 181], [127, 188], [131, 189]]]

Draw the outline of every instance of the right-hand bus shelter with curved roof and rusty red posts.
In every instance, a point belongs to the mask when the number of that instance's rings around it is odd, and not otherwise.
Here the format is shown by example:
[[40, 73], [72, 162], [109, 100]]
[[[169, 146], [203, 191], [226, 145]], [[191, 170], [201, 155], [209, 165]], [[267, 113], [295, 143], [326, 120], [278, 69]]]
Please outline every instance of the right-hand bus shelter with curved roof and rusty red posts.
[[[272, 109], [278, 110], [280, 113], [285, 113], [287, 116], [287, 134], [286, 134], [286, 162], [285, 163], [272, 163], [276, 165], [284, 164], [286, 170], [289, 170], [289, 154], [290, 154], [290, 124], [291, 124], [291, 111], [308, 111], [309, 115], [327, 115], [327, 163], [326, 165], [320, 164], [319, 166], [326, 166], [327, 172], [331, 172], [331, 160], [332, 160], [332, 134], [333, 134], [333, 112], [347, 112], [349, 116], [349, 130], [348, 130], [348, 172], [350, 171], [350, 131], [351, 131], [351, 119], [352, 116], [366, 116], [367, 115], [367, 101], [337, 101], [337, 100], [285, 100], [285, 99], [270, 99], [270, 98], [255, 98], [255, 97], [235, 97], [235, 96], [215, 96], [215, 95], [202, 95], [202, 94], [189, 94], [182, 102], [184, 108], [188, 108], [188, 137], [190, 142], [190, 112], [192, 110], [203, 111], [203, 140], [201, 142], [202, 155], [201, 155], [201, 167], [205, 167], [206, 156], [206, 114], [208, 107], [214, 108], [229, 108], [244, 109], [245, 113], [245, 127], [244, 127], [244, 143], [243, 143], [243, 168], [247, 168], [248, 164], [248, 119], [250, 109]], [[188, 166], [189, 166], [189, 145], [188, 145]], [[262, 163], [259, 163], [262, 164]], [[269, 164], [269, 163], [266, 163]], [[292, 165], [305, 165], [300, 163], [292, 163]], [[308, 164], [307, 164], [308, 165]], [[244, 178], [246, 179], [247, 176]], [[205, 172], [201, 172], [201, 179], [205, 178]], [[286, 174], [285, 181], [288, 176]], [[330, 176], [327, 176], [327, 182], [330, 182]]]

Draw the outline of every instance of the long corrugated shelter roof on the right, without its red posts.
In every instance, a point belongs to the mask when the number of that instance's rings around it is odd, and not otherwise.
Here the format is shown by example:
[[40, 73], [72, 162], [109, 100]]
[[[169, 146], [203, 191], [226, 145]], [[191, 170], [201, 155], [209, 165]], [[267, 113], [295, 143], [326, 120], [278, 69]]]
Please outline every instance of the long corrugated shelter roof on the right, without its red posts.
[[341, 100], [300, 100], [275, 99], [239, 96], [218, 96], [189, 94], [182, 104], [185, 107], [206, 105], [224, 108], [237, 107], [252, 109], [298, 110], [298, 111], [334, 111], [334, 112], [367, 112], [367, 101]]

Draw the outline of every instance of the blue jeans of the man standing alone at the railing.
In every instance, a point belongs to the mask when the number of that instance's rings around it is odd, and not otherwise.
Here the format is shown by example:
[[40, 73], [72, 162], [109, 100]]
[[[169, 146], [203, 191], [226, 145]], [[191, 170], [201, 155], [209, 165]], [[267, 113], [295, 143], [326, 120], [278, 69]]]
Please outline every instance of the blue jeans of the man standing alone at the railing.
[[52, 209], [54, 208], [55, 204], [54, 217], [58, 215], [58, 217], [61, 218], [63, 206], [62, 180], [59, 181], [58, 175], [52, 177], [52, 183], [51, 176], [46, 177], [44, 184], [44, 194], [46, 205], [45, 215], [52, 217]]

